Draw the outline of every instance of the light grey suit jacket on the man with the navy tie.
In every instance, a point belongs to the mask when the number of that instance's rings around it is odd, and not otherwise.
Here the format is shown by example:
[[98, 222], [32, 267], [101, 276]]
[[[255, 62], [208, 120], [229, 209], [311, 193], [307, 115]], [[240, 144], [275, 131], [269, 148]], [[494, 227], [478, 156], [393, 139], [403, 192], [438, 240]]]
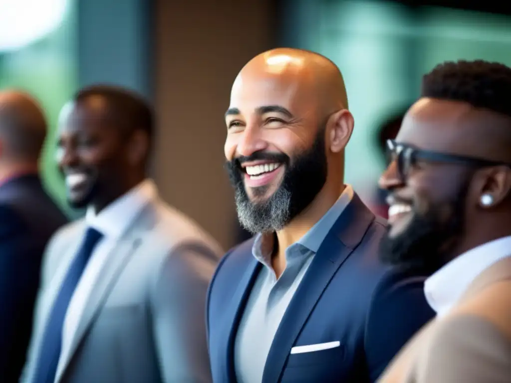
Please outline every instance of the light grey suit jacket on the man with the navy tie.
[[[33, 382], [45, 323], [80, 246], [83, 220], [52, 238], [21, 381]], [[204, 306], [222, 250], [193, 221], [155, 199], [109, 255], [57, 382], [210, 382]]]

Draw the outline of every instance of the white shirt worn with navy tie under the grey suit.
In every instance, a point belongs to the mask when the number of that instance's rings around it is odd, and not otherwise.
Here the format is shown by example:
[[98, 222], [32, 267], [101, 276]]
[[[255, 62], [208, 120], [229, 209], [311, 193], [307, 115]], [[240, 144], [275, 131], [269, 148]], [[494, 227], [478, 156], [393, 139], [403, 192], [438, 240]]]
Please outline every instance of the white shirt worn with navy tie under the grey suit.
[[155, 196], [156, 186], [153, 181], [147, 179], [105, 207], [99, 214], [96, 214], [91, 207], [87, 210], [85, 216], [87, 227], [95, 228], [103, 234], [103, 237], [92, 252], [71, 301], [69, 301], [62, 328], [62, 348], [57, 371], [63, 368], [63, 356], [69, 352], [87, 299], [108, 259], [108, 255], [129, 228], [136, 215]]

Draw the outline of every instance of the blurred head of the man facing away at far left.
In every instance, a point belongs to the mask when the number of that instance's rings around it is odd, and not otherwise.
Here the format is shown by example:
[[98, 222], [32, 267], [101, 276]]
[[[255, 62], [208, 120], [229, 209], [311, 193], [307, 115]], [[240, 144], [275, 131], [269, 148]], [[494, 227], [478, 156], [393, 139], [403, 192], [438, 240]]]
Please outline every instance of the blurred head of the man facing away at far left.
[[29, 94], [0, 92], [2, 159], [37, 161], [47, 133], [44, 113]]

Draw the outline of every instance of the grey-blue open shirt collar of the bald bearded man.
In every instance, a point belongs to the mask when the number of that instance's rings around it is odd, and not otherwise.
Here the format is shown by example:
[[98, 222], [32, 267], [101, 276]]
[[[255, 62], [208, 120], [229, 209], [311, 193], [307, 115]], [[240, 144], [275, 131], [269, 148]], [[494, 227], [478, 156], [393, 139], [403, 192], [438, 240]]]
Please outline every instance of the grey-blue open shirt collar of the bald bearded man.
[[[346, 185], [335, 204], [332, 205], [326, 214], [324, 214], [324, 216], [321, 217], [321, 219], [316, 222], [316, 224], [311, 227], [296, 244], [293, 244], [286, 249], [286, 258], [289, 254], [288, 250], [293, 246], [299, 246], [301, 248], [298, 252], [300, 254], [306, 254], [310, 251], [317, 253], [324, 238], [327, 236], [332, 226], [334, 226], [335, 222], [344, 211], [344, 208], [353, 199], [353, 194], [353, 187], [351, 185]], [[268, 264], [269, 258], [273, 253], [274, 240], [275, 233], [257, 234], [252, 245], [252, 255], [255, 259], [265, 265]]]

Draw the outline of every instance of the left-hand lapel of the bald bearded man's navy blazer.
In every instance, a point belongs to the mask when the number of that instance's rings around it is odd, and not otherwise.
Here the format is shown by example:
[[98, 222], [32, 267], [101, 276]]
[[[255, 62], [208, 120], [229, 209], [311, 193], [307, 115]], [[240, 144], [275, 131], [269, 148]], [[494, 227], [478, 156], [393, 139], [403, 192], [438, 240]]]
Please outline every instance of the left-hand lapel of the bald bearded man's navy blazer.
[[[223, 328], [219, 331], [220, 338], [218, 342], [219, 347], [219, 360], [223, 361], [222, 377], [219, 381], [236, 381], [236, 374], [234, 370], [234, 343], [236, 340], [236, 333], [240, 324], [241, 315], [245, 309], [250, 291], [255, 282], [262, 265], [252, 256], [251, 244], [249, 241], [247, 249], [244, 249], [247, 256], [246, 267], [243, 275], [236, 286], [233, 296], [231, 297], [228, 305], [225, 307], [225, 316], [223, 319]], [[248, 248], [249, 247], [249, 248]], [[240, 249], [241, 250], [241, 249]], [[248, 254], [247, 254], [248, 253]]]

